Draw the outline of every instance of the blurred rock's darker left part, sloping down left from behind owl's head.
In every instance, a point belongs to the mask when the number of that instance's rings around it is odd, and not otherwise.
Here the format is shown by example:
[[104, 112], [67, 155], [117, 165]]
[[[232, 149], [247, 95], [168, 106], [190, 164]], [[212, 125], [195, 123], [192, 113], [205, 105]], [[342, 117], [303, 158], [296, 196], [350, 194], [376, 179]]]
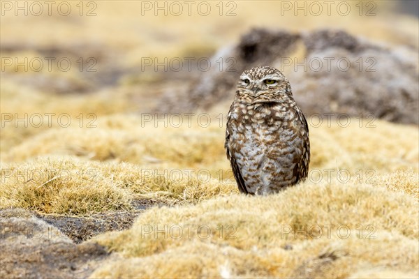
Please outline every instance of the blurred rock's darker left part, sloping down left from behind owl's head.
[[233, 98], [235, 84], [243, 70], [269, 63], [272, 57], [290, 54], [299, 38], [287, 31], [254, 29], [242, 36], [239, 45], [223, 47], [214, 54], [210, 70], [193, 80], [186, 94], [168, 91], [158, 106], [159, 112], [191, 112]]

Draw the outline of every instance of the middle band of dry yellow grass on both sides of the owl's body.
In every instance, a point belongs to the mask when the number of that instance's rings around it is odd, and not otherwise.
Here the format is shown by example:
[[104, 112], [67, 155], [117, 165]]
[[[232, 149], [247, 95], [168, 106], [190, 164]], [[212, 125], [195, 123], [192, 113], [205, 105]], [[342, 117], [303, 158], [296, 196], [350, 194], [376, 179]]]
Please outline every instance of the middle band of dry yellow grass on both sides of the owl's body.
[[[309, 183], [369, 183], [418, 197], [417, 128], [385, 121], [376, 121], [374, 125], [360, 127], [359, 119], [351, 119], [347, 127], [333, 122], [330, 127], [329, 123], [311, 126], [313, 160]], [[390, 138], [386, 136], [388, 133], [394, 135]], [[85, 193], [79, 187], [84, 187], [84, 183], [92, 191], [96, 187], [110, 187], [115, 195], [123, 193], [124, 206], [133, 197], [172, 204], [196, 203], [234, 193], [237, 189], [225, 157], [223, 134], [224, 128], [219, 123], [206, 128], [196, 124], [190, 128], [187, 125], [166, 128], [153, 123], [142, 125], [141, 116], [123, 114], [99, 118], [96, 128], [47, 130], [4, 153], [3, 160], [10, 163], [2, 166], [2, 179], [6, 183], [1, 186], [5, 189], [0, 194], [1, 204], [3, 208], [22, 206], [47, 213], [71, 214], [117, 208], [100, 195], [96, 204], [87, 205], [91, 208], [80, 206], [78, 199], [83, 199]], [[346, 141], [349, 137], [357, 140]], [[47, 158], [36, 159], [38, 156]], [[13, 163], [24, 160], [27, 161]], [[98, 181], [91, 184], [92, 181], [85, 179], [80, 181], [80, 176], [75, 174], [68, 179], [56, 177], [56, 173], [30, 180], [31, 174], [46, 169], [56, 169], [64, 176], [67, 172], [84, 173], [90, 169], [97, 174], [94, 179]], [[63, 192], [70, 188], [73, 194]], [[50, 206], [50, 200], [57, 197], [47, 195], [73, 195], [65, 203], [73, 200], [75, 204]], [[115, 200], [118, 198], [115, 196]], [[22, 200], [18, 202], [18, 199]]]

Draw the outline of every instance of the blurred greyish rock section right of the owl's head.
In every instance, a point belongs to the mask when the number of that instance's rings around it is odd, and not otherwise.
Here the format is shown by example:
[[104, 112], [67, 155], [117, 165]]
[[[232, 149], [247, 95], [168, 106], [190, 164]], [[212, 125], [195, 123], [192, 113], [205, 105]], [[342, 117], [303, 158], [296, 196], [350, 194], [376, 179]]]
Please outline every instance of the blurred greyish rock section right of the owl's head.
[[307, 61], [323, 62], [319, 70], [313, 66], [288, 75], [304, 113], [418, 124], [417, 53], [366, 43], [343, 31], [316, 31], [303, 41]]

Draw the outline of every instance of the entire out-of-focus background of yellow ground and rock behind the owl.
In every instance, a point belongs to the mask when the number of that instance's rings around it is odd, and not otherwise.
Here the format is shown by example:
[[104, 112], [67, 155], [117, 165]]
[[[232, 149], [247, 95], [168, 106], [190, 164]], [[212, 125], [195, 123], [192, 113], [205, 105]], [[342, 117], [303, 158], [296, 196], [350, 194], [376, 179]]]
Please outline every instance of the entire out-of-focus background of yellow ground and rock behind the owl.
[[1, 151], [50, 128], [24, 114], [226, 113], [260, 64], [307, 114], [417, 124], [418, 31], [414, 0], [1, 1]]

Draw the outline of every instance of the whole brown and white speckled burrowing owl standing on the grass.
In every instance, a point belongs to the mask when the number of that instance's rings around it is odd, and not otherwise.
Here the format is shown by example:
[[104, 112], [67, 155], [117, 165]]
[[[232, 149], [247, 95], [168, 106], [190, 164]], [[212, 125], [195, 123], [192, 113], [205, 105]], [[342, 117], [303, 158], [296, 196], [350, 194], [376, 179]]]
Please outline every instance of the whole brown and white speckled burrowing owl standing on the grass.
[[277, 193], [307, 177], [309, 127], [279, 70], [255, 67], [242, 73], [228, 112], [225, 147], [242, 193]]

